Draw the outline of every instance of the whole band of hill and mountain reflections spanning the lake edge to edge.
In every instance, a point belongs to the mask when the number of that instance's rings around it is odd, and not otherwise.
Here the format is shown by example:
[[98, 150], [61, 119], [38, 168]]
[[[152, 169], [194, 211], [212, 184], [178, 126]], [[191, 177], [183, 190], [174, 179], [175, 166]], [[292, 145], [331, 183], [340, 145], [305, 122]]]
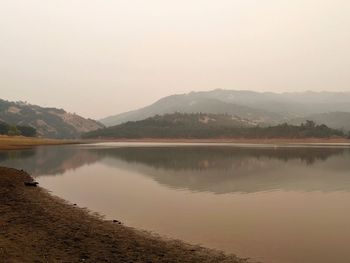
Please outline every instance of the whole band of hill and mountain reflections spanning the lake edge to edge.
[[0, 153], [0, 165], [55, 175], [101, 161], [167, 187], [215, 193], [350, 191], [349, 157], [341, 148], [61, 146]]

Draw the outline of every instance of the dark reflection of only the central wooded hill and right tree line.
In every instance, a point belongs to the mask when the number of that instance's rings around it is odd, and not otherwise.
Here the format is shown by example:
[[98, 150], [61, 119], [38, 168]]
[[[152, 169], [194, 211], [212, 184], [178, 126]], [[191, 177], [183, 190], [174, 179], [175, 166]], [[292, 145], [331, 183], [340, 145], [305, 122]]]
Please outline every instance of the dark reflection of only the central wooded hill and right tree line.
[[334, 155], [348, 152], [342, 148], [236, 148], [236, 147], [144, 147], [144, 148], [105, 148], [96, 153], [115, 157], [127, 162], [143, 163], [165, 169], [210, 169], [230, 167], [232, 162], [248, 157], [277, 159], [288, 162], [300, 160], [307, 165], [316, 161], [326, 161]]

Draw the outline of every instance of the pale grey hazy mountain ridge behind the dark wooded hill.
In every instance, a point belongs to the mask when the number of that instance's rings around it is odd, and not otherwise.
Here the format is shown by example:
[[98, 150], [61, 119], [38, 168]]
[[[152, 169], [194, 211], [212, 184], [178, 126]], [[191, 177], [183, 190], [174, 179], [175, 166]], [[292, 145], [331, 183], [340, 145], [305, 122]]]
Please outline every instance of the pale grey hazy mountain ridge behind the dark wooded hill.
[[106, 126], [138, 121], [156, 114], [230, 114], [255, 123], [278, 124], [331, 111], [350, 112], [350, 92], [272, 93], [213, 90], [164, 97], [154, 104], [100, 120]]

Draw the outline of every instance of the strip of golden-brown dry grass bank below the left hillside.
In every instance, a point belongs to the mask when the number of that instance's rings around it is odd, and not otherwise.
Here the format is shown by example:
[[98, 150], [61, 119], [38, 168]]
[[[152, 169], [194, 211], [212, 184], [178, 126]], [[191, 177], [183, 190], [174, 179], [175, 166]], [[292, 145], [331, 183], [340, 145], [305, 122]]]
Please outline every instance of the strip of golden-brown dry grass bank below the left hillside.
[[25, 149], [39, 145], [74, 144], [73, 140], [54, 140], [23, 136], [0, 136], [0, 150]]

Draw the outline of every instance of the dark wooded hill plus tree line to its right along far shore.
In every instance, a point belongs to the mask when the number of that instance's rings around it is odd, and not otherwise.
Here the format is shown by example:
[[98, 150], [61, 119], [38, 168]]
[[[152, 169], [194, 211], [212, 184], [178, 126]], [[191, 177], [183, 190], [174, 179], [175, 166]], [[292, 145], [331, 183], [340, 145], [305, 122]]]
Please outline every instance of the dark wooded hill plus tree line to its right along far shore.
[[329, 138], [346, 137], [344, 132], [306, 121], [300, 126], [281, 124], [260, 127], [230, 115], [183, 114], [156, 115], [142, 121], [100, 129], [83, 138]]

